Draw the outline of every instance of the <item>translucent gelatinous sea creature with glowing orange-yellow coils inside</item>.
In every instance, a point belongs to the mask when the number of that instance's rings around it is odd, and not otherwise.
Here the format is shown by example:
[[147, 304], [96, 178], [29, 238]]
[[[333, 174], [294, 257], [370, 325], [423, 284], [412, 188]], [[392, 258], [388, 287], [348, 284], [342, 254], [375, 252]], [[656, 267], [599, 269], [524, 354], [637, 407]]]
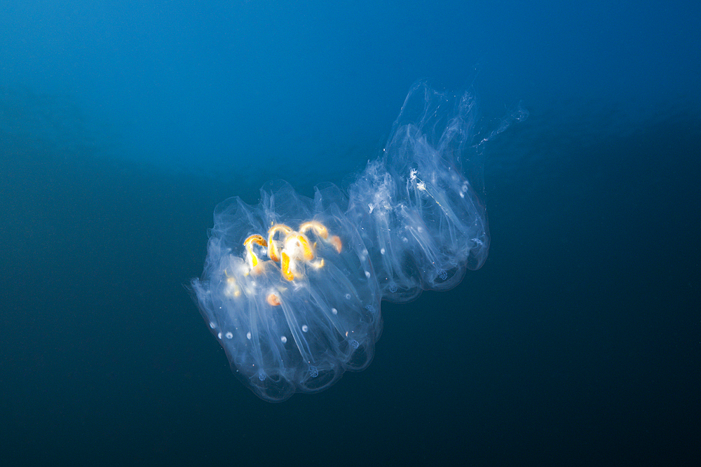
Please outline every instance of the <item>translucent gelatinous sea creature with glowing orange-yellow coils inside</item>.
[[[413, 109], [413, 110], [412, 110]], [[346, 192], [278, 181], [215, 209], [196, 300], [233, 370], [265, 400], [322, 391], [372, 361], [380, 301], [456, 286], [489, 250], [463, 175], [474, 100], [416, 85], [383, 153]], [[482, 141], [483, 142], [483, 141]]]

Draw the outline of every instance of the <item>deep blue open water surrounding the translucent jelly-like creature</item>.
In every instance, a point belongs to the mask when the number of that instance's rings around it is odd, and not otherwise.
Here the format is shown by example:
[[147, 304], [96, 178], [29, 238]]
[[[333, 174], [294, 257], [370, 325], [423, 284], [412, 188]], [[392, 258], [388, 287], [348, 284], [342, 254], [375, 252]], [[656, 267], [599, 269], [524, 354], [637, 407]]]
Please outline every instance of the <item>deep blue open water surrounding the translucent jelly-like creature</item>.
[[[332, 6], [330, 6], [332, 5]], [[690, 2], [0, 6], [0, 453], [13, 464], [695, 465]], [[491, 251], [383, 304], [372, 365], [265, 403], [184, 287], [215, 205], [343, 183], [411, 83], [473, 85]]]

